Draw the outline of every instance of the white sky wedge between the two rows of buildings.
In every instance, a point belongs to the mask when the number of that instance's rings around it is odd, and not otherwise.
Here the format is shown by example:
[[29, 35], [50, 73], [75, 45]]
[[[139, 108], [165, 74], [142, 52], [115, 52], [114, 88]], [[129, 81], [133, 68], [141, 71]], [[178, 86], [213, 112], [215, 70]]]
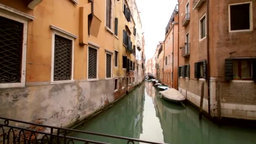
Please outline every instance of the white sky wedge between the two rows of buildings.
[[178, 0], [136, 0], [145, 39], [146, 60], [152, 58], [159, 41], [165, 38], [165, 27]]

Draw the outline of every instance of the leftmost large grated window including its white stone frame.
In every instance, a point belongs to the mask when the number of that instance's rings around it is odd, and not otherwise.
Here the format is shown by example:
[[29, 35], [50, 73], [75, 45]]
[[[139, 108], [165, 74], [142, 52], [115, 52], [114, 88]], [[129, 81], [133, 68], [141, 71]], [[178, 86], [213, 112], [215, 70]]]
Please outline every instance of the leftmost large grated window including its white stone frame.
[[25, 86], [27, 21], [0, 16], [0, 25], [0, 88]]

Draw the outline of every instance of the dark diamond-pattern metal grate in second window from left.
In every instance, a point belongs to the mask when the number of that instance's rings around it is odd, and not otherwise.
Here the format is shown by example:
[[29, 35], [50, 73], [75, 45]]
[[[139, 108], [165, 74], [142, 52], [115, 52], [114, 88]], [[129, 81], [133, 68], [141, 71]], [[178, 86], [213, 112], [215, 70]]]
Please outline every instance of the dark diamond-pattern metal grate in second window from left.
[[55, 35], [53, 80], [71, 80], [72, 40]]

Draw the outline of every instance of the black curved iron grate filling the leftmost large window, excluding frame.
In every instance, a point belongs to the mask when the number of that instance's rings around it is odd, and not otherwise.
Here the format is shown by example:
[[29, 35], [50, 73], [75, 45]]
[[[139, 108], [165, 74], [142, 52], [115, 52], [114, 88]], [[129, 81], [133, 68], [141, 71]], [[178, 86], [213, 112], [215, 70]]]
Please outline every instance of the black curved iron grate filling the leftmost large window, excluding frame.
[[0, 16], [0, 83], [21, 81], [23, 24]]

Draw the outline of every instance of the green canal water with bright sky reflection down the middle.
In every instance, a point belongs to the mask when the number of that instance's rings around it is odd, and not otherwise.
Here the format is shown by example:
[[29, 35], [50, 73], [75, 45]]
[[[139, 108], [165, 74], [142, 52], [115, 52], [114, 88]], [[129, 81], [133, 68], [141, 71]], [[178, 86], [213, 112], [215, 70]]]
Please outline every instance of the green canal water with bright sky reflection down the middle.
[[[98, 117], [78, 130], [125, 136], [168, 144], [256, 144], [256, 129], [198, 119], [194, 107], [173, 104], [158, 96], [152, 83], [144, 82]], [[83, 139], [126, 144], [126, 141], [74, 134]]]

